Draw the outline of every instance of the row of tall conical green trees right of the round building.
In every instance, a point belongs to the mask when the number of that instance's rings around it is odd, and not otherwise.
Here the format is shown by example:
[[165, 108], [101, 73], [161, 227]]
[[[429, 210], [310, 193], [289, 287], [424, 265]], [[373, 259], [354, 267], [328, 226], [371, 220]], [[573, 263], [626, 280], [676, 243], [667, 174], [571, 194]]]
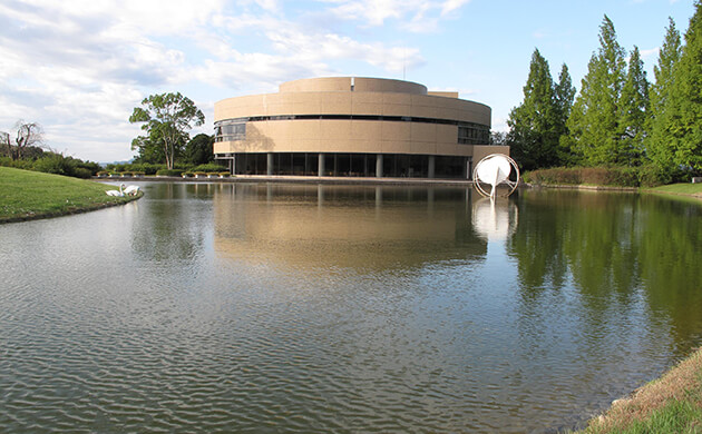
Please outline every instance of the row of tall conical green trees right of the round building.
[[702, 3], [685, 32], [670, 19], [646, 79], [638, 48], [631, 55], [616, 40], [606, 16], [599, 49], [576, 97], [568, 68], [558, 81], [537, 50], [532, 56], [524, 101], [509, 114], [506, 144], [523, 169], [556, 166], [642, 166], [702, 171]]

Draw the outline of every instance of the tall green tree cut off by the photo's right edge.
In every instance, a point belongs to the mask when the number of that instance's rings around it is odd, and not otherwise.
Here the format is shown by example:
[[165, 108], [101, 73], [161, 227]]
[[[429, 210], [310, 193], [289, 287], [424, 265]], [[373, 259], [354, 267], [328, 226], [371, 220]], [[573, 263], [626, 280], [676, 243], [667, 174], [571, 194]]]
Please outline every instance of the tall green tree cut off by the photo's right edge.
[[666, 110], [670, 110], [670, 140], [673, 162], [702, 170], [702, 3], [685, 32], [685, 46], [674, 68]]

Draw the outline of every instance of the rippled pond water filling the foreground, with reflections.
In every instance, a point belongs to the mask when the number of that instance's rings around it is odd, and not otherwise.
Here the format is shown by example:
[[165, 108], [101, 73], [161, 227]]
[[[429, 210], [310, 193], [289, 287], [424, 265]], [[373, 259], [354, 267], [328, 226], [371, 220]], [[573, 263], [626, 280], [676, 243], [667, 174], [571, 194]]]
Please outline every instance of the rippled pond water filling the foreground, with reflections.
[[0, 431], [553, 432], [702, 343], [702, 208], [144, 184], [0, 226]]

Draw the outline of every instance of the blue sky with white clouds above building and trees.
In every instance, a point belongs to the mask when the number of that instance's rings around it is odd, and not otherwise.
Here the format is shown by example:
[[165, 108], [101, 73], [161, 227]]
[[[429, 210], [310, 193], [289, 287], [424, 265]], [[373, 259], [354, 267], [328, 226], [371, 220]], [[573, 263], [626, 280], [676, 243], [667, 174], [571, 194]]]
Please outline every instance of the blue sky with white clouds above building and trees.
[[606, 14], [649, 79], [672, 17], [692, 0], [2, 0], [0, 131], [39, 122], [46, 146], [84, 160], [128, 160], [144, 98], [214, 103], [313, 77], [379, 77], [458, 91], [507, 130], [538, 48], [579, 90]]

